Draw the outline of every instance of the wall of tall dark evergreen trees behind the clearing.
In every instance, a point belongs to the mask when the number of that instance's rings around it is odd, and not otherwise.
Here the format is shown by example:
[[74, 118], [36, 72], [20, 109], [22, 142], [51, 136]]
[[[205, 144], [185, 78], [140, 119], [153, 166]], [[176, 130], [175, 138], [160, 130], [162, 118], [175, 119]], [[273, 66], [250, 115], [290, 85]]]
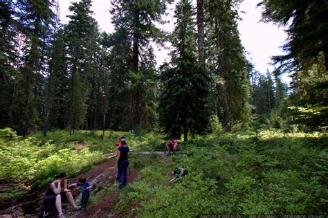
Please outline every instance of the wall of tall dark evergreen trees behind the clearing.
[[[239, 39], [239, 1], [197, 0], [192, 6], [188, 0], [112, 0], [107, 19], [115, 30], [110, 34], [100, 33], [91, 0], [73, 2], [66, 25], [60, 23], [57, 0], [0, 1], [0, 127], [23, 136], [37, 129], [44, 136], [49, 129], [71, 134], [75, 129], [159, 129], [187, 139], [210, 132], [212, 116], [231, 131], [282, 102], [286, 107], [286, 99], [294, 111], [320, 109], [320, 116], [301, 121], [322, 126], [327, 123], [322, 118], [327, 113], [327, 91], [322, 91], [328, 84], [327, 35], [312, 34], [306, 20], [327, 19], [327, 3], [293, 1], [284, 8], [276, 2], [262, 2], [265, 21], [287, 25], [298, 15], [284, 17], [282, 10], [298, 7], [309, 10], [309, 17], [302, 15], [304, 23], [290, 26], [285, 46], [290, 53], [275, 59], [290, 66], [263, 75], [246, 60]], [[176, 4], [174, 30], [165, 33], [156, 23], [165, 22], [169, 3]], [[308, 42], [304, 37], [312, 44], [295, 50]], [[156, 69], [152, 45], [165, 42], [172, 44], [171, 60]], [[294, 72], [289, 95], [281, 81], [288, 69]]]

